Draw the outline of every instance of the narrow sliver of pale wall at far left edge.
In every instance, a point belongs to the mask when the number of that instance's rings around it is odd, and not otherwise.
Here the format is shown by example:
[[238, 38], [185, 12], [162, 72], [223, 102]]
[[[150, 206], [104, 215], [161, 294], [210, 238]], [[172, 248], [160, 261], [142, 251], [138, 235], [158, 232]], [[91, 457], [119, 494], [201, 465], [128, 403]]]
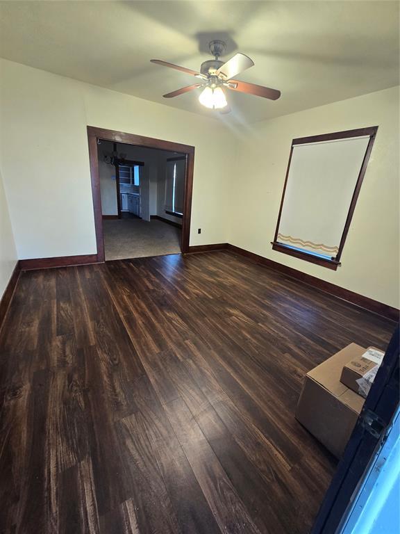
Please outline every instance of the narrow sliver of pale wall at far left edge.
[[0, 173], [0, 299], [6, 290], [16, 264], [17, 251], [15, 250], [6, 194]]

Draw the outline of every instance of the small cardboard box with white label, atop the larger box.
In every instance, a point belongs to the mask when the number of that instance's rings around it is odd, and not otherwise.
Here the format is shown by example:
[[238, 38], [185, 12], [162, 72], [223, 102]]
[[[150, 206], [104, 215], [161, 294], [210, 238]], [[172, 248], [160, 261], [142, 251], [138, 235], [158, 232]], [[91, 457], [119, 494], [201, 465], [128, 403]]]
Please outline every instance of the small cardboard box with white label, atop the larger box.
[[384, 355], [382, 350], [368, 347], [363, 355], [351, 359], [344, 365], [340, 382], [356, 391], [358, 395], [367, 398]]

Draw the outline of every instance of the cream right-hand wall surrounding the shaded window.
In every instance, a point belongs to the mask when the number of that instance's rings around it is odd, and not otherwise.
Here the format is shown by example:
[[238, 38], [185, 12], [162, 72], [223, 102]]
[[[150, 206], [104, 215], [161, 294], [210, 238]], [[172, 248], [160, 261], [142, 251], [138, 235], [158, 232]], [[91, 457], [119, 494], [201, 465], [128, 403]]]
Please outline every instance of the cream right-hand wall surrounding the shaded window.
[[[272, 250], [292, 139], [376, 125], [342, 266], [328, 270]], [[237, 154], [229, 243], [399, 307], [399, 88], [253, 124]]]

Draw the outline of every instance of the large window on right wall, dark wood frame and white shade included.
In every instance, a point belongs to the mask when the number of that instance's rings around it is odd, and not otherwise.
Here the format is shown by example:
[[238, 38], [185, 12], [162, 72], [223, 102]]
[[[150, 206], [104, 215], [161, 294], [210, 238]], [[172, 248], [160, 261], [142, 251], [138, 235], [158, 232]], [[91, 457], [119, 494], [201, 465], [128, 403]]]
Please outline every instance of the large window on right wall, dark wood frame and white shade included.
[[338, 268], [377, 129], [292, 140], [274, 250]]

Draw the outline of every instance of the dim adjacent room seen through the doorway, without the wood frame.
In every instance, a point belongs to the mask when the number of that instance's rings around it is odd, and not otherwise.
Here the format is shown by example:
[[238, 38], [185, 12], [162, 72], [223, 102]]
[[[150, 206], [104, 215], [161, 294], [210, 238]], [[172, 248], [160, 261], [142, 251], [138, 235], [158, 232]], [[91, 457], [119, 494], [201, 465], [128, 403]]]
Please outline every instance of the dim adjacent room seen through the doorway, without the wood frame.
[[185, 154], [99, 140], [106, 260], [181, 252]]

